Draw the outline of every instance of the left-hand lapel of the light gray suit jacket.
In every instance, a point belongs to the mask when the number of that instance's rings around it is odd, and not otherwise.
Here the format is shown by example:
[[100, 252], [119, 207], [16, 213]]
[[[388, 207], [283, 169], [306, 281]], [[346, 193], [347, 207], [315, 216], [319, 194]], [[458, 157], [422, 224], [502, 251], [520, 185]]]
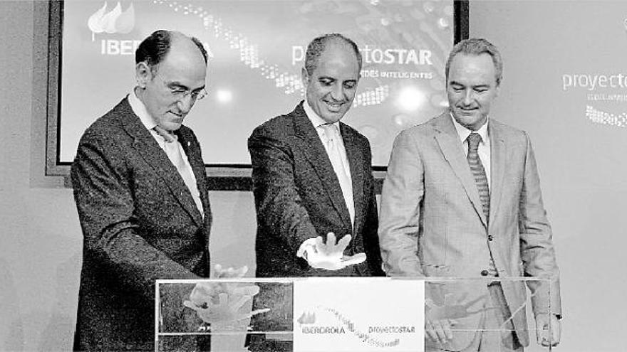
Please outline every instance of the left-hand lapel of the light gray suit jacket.
[[483, 213], [475, 178], [472, 177], [470, 166], [468, 166], [468, 161], [462, 150], [460, 137], [450, 119], [449, 112], [445, 112], [440, 115], [440, 117], [437, 117], [435, 129], [438, 133], [435, 134], [435, 139], [440, 146], [444, 158], [450, 164], [457, 178], [460, 179], [462, 186], [464, 186], [466, 194], [468, 198], [470, 198], [472, 206], [475, 207], [477, 215], [479, 215], [483, 225], [487, 228], [487, 220]]

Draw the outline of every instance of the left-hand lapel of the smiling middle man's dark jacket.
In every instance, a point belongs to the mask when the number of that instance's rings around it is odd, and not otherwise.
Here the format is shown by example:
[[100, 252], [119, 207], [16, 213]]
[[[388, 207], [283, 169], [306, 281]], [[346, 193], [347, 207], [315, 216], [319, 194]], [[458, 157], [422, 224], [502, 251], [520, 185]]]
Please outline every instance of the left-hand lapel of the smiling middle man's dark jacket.
[[340, 183], [335, 171], [333, 171], [331, 161], [328, 159], [326, 149], [324, 149], [320, 137], [318, 137], [316, 128], [311, 124], [302, 105], [296, 107], [296, 110], [292, 112], [292, 116], [294, 117], [294, 131], [298, 140], [296, 145], [309, 160], [314, 170], [316, 170], [316, 174], [320, 178], [323, 188], [333, 204], [333, 208], [336, 208], [336, 211], [340, 214], [342, 222], [352, 228], [351, 215], [348, 214]]

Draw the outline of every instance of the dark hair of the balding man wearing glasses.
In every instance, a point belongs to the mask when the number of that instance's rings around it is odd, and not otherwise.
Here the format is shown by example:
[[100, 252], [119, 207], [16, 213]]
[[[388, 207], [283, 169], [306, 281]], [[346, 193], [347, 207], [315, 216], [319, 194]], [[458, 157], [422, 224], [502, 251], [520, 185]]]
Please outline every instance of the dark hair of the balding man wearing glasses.
[[[207, 50], [204, 50], [204, 46], [202, 46], [198, 38], [191, 37], [191, 39], [198, 47], [198, 50], [200, 50], [200, 53], [202, 53], [204, 63], [207, 63]], [[152, 32], [135, 50], [135, 64], [146, 62], [148, 67], [153, 70], [165, 58], [165, 55], [170, 52], [171, 44], [172, 31], [160, 29]]]

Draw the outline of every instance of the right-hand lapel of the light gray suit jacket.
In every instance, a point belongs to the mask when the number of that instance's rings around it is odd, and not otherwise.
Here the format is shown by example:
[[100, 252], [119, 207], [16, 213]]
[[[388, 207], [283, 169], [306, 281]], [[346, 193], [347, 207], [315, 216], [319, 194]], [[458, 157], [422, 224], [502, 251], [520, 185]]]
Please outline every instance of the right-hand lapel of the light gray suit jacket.
[[503, 177], [505, 174], [505, 159], [507, 148], [502, 134], [499, 133], [499, 125], [492, 120], [488, 124], [490, 139], [490, 224], [494, 223], [499, 210], [499, 203], [503, 191]]

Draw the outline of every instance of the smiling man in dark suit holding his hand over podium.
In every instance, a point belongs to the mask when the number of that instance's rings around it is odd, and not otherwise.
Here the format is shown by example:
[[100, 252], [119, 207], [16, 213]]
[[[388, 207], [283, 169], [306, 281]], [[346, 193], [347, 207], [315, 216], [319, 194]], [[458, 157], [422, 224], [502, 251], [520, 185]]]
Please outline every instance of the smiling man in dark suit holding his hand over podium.
[[[383, 275], [370, 144], [340, 122], [360, 70], [353, 41], [315, 38], [302, 70], [306, 100], [249, 137], [257, 277]], [[280, 309], [266, 297], [259, 308]]]

